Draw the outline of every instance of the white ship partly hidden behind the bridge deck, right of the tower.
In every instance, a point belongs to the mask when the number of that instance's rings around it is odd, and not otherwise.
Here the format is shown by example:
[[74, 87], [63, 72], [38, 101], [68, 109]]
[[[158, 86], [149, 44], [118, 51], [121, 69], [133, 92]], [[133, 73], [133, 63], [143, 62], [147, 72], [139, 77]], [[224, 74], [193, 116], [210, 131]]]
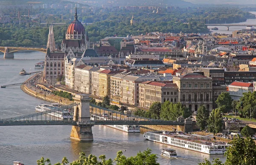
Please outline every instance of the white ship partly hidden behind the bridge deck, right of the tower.
[[[91, 114], [91, 120], [108, 120], [108, 114], [102, 114], [101, 116], [96, 114]], [[140, 132], [140, 125], [106, 125], [106, 126], [118, 129], [120, 131], [128, 132], [128, 133]]]

